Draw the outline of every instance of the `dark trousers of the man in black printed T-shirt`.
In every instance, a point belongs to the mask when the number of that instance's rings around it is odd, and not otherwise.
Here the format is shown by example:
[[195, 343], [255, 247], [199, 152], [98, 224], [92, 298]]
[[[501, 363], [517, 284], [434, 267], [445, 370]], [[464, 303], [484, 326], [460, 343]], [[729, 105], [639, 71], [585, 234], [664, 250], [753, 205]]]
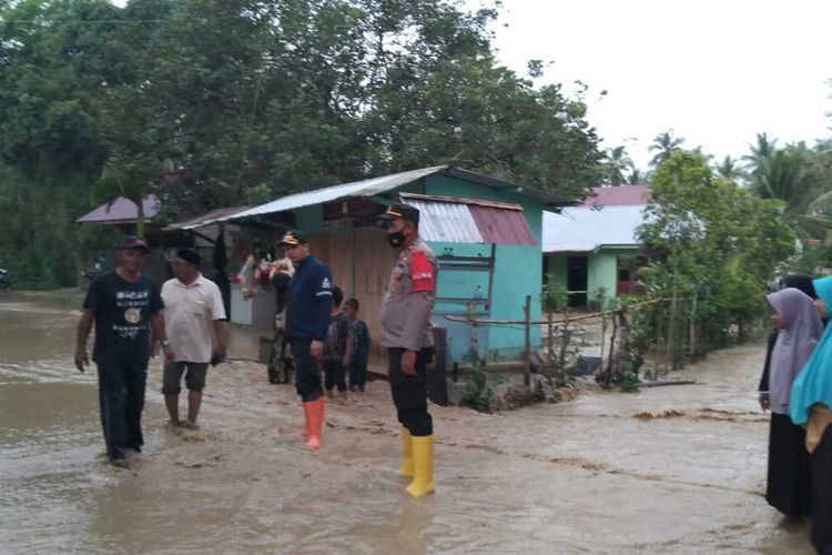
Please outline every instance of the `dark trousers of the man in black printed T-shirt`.
[[124, 359], [98, 364], [99, 410], [106, 454], [123, 458], [124, 450], [144, 445], [142, 410], [148, 383], [148, 361]]

